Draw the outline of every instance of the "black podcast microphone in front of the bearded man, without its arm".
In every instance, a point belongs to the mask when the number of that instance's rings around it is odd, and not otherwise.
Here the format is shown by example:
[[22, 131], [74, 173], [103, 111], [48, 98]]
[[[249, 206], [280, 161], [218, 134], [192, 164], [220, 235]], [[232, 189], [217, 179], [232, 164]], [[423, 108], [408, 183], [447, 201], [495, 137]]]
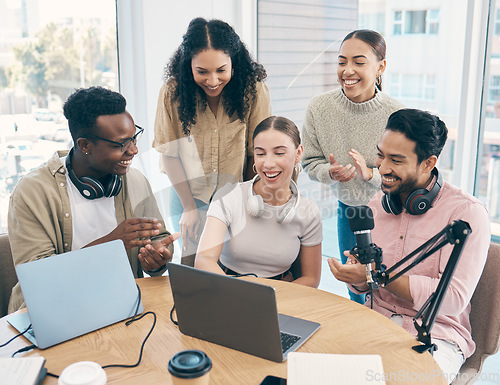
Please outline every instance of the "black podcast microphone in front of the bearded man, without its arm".
[[373, 211], [368, 206], [351, 206], [347, 209], [349, 227], [356, 236], [356, 246], [351, 250], [358, 261], [366, 267], [366, 283], [371, 288], [377, 288], [378, 283], [372, 274], [372, 263], [375, 269], [380, 270], [382, 263], [382, 249], [372, 243], [371, 230], [375, 227]]

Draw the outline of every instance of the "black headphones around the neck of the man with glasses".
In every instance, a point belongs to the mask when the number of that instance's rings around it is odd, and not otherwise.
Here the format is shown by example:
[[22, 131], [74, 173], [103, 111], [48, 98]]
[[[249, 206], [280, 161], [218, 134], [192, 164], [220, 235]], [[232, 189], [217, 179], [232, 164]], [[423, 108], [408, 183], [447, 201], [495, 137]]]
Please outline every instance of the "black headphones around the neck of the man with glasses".
[[109, 198], [118, 195], [122, 189], [122, 177], [120, 175], [109, 174], [103, 183], [88, 176], [78, 178], [71, 167], [73, 150], [72, 148], [66, 157], [66, 169], [68, 170], [69, 179], [71, 179], [78, 191], [80, 191], [80, 194], [87, 199]]

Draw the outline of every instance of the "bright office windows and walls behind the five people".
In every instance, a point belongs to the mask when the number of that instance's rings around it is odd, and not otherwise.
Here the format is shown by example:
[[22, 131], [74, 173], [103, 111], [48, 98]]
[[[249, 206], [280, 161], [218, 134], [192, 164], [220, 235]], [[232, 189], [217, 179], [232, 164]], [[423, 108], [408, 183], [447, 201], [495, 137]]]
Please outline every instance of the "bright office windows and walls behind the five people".
[[[445, 178], [488, 208], [500, 240], [500, 4], [494, 0], [0, 0], [0, 226], [24, 174], [72, 142], [62, 104], [74, 89], [120, 91], [146, 131], [134, 166], [168, 219], [168, 178], [151, 148], [163, 68], [193, 17], [230, 23], [268, 73], [273, 113], [300, 128], [308, 101], [338, 87], [342, 38], [358, 28], [387, 42], [383, 90], [438, 114], [450, 135]], [[360, 128], [362, 129], [362, 128]], [[299, 178], [338, 256], [336, 199]]]

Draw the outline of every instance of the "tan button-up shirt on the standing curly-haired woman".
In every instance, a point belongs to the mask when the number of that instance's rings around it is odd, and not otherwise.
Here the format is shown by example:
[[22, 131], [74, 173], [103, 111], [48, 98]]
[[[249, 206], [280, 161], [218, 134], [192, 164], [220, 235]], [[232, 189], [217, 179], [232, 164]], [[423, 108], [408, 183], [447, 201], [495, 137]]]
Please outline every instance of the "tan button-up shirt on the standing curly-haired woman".
[[182, 131], [179, 102], [173, 100], [175, 87], [175, 80], [170, 79], [160, 90], [153, 147], [163, 155], [179, 158], [193, 197], [209, 203], [226, 183], [243, 180], [247, 158], [253, 156], [255, 127], [271, 115], [269, 89], [265, 83], [257, 82], [257, 93], [250, 100], [243, 121], [237, 113], [226, 114], [222, 98], [217, 117], [199, 99], [196, 123], [189, 127], [189, 140]]

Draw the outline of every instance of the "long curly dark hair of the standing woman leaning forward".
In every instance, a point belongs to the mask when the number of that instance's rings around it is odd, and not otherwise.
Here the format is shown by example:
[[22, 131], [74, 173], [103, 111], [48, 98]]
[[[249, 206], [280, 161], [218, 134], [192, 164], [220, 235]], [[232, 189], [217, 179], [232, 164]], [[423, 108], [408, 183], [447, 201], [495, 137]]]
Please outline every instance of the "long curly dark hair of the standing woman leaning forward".
[[[233, 75], [224, 87], [224, 110], [231, 116], [235, 111], [243, 120], [250, 108], [250, 99], [256, 94], [256, 83], [266, 78], [264, 67], [255, 62], [234, 29], [222, 20], [191, 20], [181, 45], [165, 67], [165, 81], [170, 77], [177, 82], [174, 98], [179, 101], [179, 118], [182, 129], [189, 136], [189, 126], [196, 123], [196, 96], [205, 98], [194, 81], [191, 69], [193, 56], [201, 51], [214, 49], [229, 55]], [[205, 108], [207, 106], [206, 99]]]

